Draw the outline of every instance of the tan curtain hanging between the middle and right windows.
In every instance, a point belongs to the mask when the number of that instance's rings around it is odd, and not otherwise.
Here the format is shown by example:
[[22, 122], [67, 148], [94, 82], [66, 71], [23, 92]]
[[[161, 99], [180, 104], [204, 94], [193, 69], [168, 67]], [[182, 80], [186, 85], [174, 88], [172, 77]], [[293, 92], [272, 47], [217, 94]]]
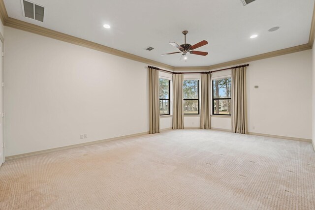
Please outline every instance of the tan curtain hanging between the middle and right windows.
[[211, 74], [201, 73], [201, 104], [200, 104], [200, 128], [201, 129], [211, 129], [210, 83], [211, 83]]

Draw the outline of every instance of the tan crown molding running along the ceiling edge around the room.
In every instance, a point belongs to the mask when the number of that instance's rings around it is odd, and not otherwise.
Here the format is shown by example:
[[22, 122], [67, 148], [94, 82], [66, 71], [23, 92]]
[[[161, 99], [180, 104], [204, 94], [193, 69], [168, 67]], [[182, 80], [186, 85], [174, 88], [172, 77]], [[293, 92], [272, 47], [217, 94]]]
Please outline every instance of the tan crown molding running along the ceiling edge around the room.
[[246, 63], [246, 62], [250, 62], [250, 61], [254, 61], [254, 60], [261, 60], [261, 59], [267, 59], [267, 58], [272, 58], [272, 57], [276, 57], [276, 56], [286, 55], [286, 54], [290, 54], [290, 53], [296, 53], [296, 52], [312, 49], [313, 44], [314, 44], [314, 39], [315, 39], [315, 5], [314, 5], [312, 24], [311, 24], [311, 30], [310, 30], [310, 36], [309, 36], [309, 43], [307, 43], [307, 44], [289, 47], [289, 48], [285, 48], [282, 50], [276, 50], [276, 51], [269, 52], [269, 53], [263, 53], [263, 54], [243, 58], [243, 59], [222, 62], [222, 63], [210, 65], [210, 66], [175, 67], [175, 66], [167, 65], [167, 64], [155, 61], [155, 60], [150, 60], [150, 59], [146, 59], [146, 58], [136, 56], [136, 55], [133, 55], [130, 53], [126, 53], [124, 51], [116, 50], [114, 48], [110, 48], [110, 47], [107, 47], [107, 46], [104, 46], [101, 44], [97, 44], [95, 42], [91, 42], [91, 41], [81, 39], [81, 38], [78, 38], [75, 36], [71, 36], [71, 35], [68, 35], [65, 33], [61, 33], [61, 32], [55, 31], [55, 30], [46, 29], [46, 28], [43, 28], [43, 27], [40, 27], [40, 26], [37, 26], [34, 24], [30, 24], [30, 23], [26, 23], [24, 21], [20, 21], [20, 20], [14, 19], [14, 18], [10, 18], [10, 17], [8, 17], [8, 14], [7, 14], [7, 11], [5, 9], [5, 5], [4, 5], [3, 0], [0, 0], [0, 19], [1, 19], [2, 24], [4, 26], [12, 27], [12, 28], [19, 29], [19, 30], [29, 31], [29, 32], [32, 32], [35, 34], [47, 36], [47, 37], [61, 40], [64, 42], [68, 42], [71, 44], [79, 45], [82, 47], [87, 47], [90, 49], [94, 49], [97, 51], [101, 51], [104, 53], [112, 54], [112, 55], [119, 56], [122, 58], [130, 59], [130, 60], [143, 62], [143, 63], [149, 64], [149, 65], [156, 65], [160, 68], [166, 68], [168, 70], [174, 70], [174, 71], [212, 70], [212, 69], [216, 69], [216, 68]]

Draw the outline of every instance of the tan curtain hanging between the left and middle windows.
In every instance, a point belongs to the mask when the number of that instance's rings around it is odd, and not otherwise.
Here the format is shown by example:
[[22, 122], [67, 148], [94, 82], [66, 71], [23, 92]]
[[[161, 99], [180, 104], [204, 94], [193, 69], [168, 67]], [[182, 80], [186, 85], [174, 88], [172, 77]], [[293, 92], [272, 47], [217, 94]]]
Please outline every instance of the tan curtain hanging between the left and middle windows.
[[184, 105], [183, 105], [184, 75], [173, 74], [173, 129], [184, 129]]

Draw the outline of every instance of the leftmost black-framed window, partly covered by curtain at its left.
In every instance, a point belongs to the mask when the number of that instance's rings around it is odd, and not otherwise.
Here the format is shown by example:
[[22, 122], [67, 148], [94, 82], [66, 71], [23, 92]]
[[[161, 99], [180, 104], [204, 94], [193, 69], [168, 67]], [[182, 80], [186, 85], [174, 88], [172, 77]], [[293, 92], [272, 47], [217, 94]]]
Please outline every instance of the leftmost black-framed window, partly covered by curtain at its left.
[[159, 115], [170, 114], [170, 81], [159, 79]]

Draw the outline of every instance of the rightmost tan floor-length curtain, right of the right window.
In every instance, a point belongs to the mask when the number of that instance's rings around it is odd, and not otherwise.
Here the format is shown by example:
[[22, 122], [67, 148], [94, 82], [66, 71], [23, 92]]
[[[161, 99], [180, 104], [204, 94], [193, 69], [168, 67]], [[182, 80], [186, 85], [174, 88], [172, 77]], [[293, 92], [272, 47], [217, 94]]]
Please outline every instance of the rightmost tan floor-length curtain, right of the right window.
[[232, 129], [247, 134], [246, 66], [232, 68]]

